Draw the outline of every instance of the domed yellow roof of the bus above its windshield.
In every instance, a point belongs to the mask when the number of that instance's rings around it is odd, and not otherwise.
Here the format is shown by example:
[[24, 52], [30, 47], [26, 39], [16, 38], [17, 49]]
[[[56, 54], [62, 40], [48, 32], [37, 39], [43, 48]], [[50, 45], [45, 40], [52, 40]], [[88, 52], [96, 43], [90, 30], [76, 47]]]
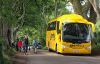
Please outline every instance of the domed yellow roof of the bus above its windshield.
[[87, 23], [88, 22], [81, 15], [78, 15], [78, 14], [66, 14], [66, 15], [62, 15], [60, 17], [57, 17], [54, 20], [51, 20], [49, 23], [54, 22], [54, 21], [60, 21], [60, 22], [78, 22], [78, 23]]

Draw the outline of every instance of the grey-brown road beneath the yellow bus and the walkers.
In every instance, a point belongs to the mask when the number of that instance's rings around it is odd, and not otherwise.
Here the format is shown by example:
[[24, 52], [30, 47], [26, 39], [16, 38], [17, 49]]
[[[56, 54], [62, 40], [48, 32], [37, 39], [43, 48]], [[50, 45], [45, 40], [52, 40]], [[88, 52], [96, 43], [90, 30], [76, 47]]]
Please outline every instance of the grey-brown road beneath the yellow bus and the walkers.
[[14, 64], [100, 64], [100, 56], [61, 55], [46, 50], [18, 53], [13, 60]]

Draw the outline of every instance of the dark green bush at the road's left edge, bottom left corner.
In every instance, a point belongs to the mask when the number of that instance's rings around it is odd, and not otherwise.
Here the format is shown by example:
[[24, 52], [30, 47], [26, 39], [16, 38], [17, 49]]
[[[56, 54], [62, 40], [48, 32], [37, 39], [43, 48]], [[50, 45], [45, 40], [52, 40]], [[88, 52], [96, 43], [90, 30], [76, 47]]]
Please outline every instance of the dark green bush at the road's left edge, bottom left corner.
[[14, 49], [7, 46], [5, 40], [0, 37], [0, 64], [12, 64], [11, 56], [14, 55], [14, 53]]

